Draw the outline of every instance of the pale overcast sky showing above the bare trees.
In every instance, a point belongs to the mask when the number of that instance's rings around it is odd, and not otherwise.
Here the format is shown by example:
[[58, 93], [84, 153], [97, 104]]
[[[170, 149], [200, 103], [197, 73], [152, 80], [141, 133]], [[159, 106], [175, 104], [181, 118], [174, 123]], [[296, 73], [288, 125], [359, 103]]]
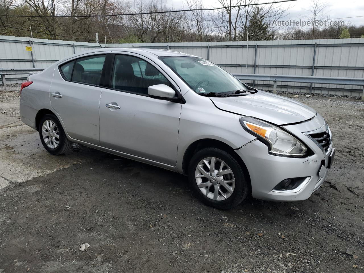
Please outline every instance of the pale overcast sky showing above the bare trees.
[[[272, 0], [258, 0], [259, 3], [270, 2]], [[221, 7], [221, 4], [217, 0], [201, 0], [206, 8], [209, 7]], [[173, 8], [182, 8], [183, 0], [169, 0], [167, 6]], [[341, 17], [352, 17], [352, 16], [364, 16], [364, 1], [363, 0], [330, 0], [323, 1], [328, 3], [326, 11], [330, 19], [341, 18]], [[283, 18], [284, 20], [299, 20], [302, 16], [307, 14], [305, 9], [310, 6], [310, 0], [299, 0], [293, 2], [282, 3], [282, 7], [290, 7], [287, 11], [287, 15]], [[345, 25], [348, 23], [355, 24], [357, 26], [364, 25], [364, 17], [340, 19], [344, 21]]]

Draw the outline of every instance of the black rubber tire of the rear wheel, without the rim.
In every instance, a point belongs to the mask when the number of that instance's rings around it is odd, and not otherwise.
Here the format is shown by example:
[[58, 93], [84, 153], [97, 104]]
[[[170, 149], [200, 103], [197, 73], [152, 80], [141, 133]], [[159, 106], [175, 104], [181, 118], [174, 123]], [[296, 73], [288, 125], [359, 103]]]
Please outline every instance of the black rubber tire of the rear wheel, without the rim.
[[[47, 146], [46, 142], [43, 139], [43, 134], [42, 134], [43, 123], [48, 119], [56, 124], [56, 126], [58, 128], [58, 132], [59, 132], [58, 146], [53, 149], [51, 147]], [[40, 141], [42, 142], [44, 149], [46, 149], [49, 153], [54, 154], [54, 155], [60, 155], [60, 154], [66, 153], [68, 150], [71, 149], [72, 142], [67, 139], [67, 136], [63, 130], [63, 127], [55, 115], [53, 115], [53, 114], [44, 115], [40, 119], [38, 130], [39, 130]]]

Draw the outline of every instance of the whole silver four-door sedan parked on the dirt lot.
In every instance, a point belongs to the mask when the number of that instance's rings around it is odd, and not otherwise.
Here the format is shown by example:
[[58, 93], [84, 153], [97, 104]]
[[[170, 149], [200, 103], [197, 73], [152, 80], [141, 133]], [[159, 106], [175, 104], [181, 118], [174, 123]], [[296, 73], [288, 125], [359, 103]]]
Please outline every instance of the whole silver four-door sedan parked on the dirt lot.
[[335, 155], [331, 131], [312, 108], [174, 51], [69, 56], [22, 84], [20, 114], [51, 154], [76, 142], [176, 171], [219, 209], [248, 194], [307, 199]]

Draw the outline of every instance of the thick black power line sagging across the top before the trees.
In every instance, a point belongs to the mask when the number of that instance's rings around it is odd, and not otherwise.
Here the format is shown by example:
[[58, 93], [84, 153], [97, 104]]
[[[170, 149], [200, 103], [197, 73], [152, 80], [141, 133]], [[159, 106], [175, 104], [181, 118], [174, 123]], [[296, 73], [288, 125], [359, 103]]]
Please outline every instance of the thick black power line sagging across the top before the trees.
[[80, 15], [80, 16], [68, 16], [68, 15], [55, 15], [55, 16], [39, 16], [39, 15], [0, 15], [0, 16], [8, 16], [8, 17], [32, 17], [32, 18], [80, 18], [80, 17], [112, 17], [112, 16], [130, 16], [130, 15], [148, 15], [148, 14], [159, 14], [159, 13], [175, 13], [175, 12], [186, 12], [186, 11], [214, 11], [217, 9], [225, 9], [225, 8], [239, 8], [246, 6], [256, 6], [256, 5], [267, 5], [267, 4], [278, 4], [284, 2], [293, 2], [300, 0], [282, 0], [282, 1], [273, 1], [267, 3], [256, 3], [256, 4], [244, 4], [244, 5], [235, 5], [235, 6], [226, 6], [219, 8], [195, 8], [195, 9], [180, 9], [176, 11], [151, 11], [151, 12], [140, 12], [140, 13], [120, 13], [120, 14], [109, 14], [109, 15]]

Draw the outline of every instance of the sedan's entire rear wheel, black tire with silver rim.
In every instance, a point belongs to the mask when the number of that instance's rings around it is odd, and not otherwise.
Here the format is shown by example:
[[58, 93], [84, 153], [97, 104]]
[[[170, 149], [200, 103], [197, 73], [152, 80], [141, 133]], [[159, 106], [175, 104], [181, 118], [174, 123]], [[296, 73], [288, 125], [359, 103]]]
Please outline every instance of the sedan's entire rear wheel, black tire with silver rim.
[[39, 122], [38, 130], [40, 141], [49, 153], [60, 155], [70, 150], [72, 142], [67, 139], [62, 125], [55, 115], [44, 115]]

